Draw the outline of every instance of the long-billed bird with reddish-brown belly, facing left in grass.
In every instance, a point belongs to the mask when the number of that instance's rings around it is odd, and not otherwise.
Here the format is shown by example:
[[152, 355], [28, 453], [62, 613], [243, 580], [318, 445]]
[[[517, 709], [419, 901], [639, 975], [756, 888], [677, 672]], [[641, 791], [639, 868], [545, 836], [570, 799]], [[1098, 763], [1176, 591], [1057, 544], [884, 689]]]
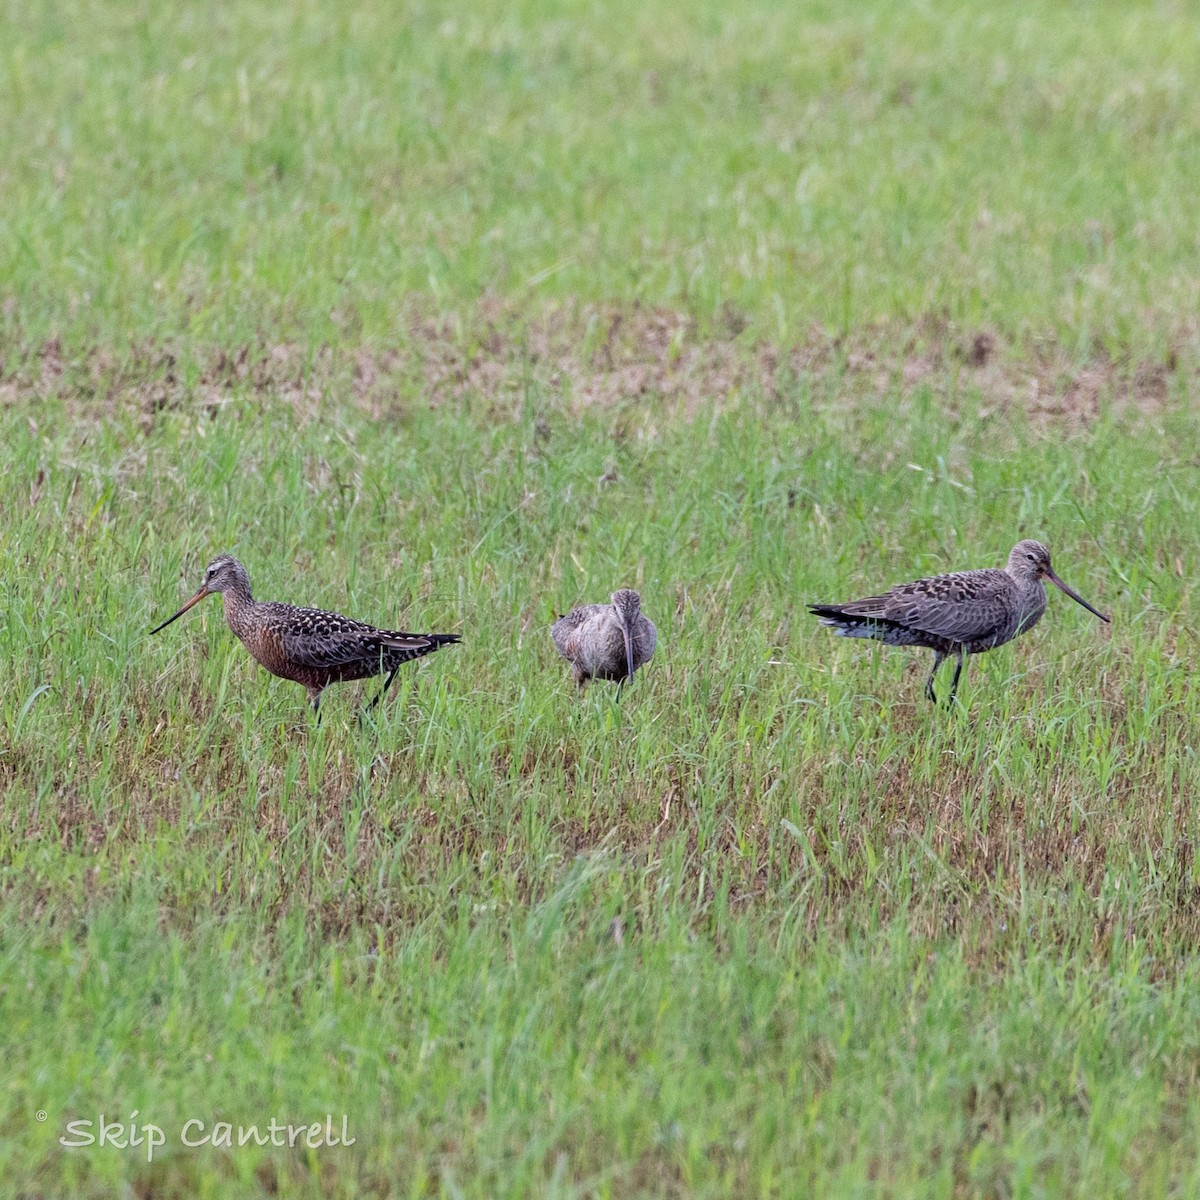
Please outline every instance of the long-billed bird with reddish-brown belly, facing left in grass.
[[457, 634], [403, 634], [320, 608], [256, 600], [246, 568], [233, 554], [214, 558], [196, 595], [150, 632], [166, 629], [215, 592], [224, 601], [229, 628], [246, 649], [271, 674], [301, 684], [318, 721], [320, 694], [331, 683], [370, 679], [388, 672], [379, 694], [367, 706], [374, 708], [404, 662], [461, 641]]

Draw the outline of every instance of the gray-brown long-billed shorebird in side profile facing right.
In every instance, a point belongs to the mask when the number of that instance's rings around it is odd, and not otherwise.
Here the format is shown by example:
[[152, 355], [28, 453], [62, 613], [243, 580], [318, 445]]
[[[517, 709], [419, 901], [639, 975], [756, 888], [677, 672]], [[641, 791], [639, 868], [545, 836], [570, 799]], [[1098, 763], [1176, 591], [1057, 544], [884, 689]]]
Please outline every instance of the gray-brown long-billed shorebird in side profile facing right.
[[1050, 566], [1050, 551], [1039, 541], [1019, 541], [1003, 570], [955, 571], [899, 583], [883, 595], [850, 604], [809, 605], [809, 612], [839, 637], [871, 637], [886, 646], [923, 646], [934, 652], [925, 695], [936, 704], [934, 677], [958, 656], [947, 703], [962, 674], [967, 654], [983, 654], [1032, 629], [1046, 610], [1045, 581], [1067, 593], [1103, 622], [1108, 617], [1067, 587]]

